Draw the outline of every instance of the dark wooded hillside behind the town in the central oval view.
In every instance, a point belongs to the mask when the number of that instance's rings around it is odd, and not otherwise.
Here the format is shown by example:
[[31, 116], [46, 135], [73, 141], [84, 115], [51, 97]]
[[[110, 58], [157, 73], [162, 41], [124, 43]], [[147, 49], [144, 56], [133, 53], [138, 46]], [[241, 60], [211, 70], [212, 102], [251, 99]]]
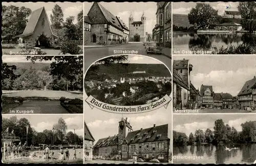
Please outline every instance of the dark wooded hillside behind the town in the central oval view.
[[169, 70], [163, 64], [136, 64], [128, 65], [112, 64], [111, 66], [99, 65], [98, 74], [106, 74], [109, 76], [133, 73], [136, 71], [145, 71], [147, 75], [170, 77]]

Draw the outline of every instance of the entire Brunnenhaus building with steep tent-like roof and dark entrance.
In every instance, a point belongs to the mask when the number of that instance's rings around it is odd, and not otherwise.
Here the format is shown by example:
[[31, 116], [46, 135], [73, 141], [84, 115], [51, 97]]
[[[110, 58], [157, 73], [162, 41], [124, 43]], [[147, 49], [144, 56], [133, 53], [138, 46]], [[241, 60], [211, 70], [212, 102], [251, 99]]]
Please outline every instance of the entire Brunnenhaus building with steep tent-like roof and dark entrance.
[[20, 48], [48, 48], [57, 36], [53, 34], [45, 7], [32, 12], [23, 34], [17, 35]]

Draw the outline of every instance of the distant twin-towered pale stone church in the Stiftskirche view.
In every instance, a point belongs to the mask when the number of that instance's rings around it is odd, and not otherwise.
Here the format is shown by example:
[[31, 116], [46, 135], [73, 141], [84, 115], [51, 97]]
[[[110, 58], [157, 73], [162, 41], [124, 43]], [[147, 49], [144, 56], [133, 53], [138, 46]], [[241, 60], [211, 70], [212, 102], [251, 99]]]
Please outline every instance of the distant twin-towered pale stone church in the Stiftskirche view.
[[129, 41], [146, 41], [146, 17], [144, 13], [140, 21], [134, 21], [133, 15], [129, 17]]

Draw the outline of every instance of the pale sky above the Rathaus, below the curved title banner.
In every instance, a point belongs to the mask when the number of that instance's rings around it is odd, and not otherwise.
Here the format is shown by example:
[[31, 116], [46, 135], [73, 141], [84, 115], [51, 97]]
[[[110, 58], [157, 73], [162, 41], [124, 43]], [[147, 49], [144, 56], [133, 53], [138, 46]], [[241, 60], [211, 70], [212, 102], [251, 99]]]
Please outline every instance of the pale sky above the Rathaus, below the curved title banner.
[[[121, 120], [122, 114], [105, 112], [95, 107], [91, 109], [86, 102], [84, 103], [84, 121], [95, 139], [94, 144], [96, 144], [100, 138], [118, 134], [118, 122]], [[151, 112], [123, 114], [123, 118], [127, 117], [127, 121], [130, 122], [133, 131], [140, 130], [140, 128], [150, 128], [153, 127], [154, 124], [156, 124], [156, 126], [168, 124], [168, 137], [172, 138], [171, 113], [172, 102], [169, 103], [167, 109], [161, 107]]]

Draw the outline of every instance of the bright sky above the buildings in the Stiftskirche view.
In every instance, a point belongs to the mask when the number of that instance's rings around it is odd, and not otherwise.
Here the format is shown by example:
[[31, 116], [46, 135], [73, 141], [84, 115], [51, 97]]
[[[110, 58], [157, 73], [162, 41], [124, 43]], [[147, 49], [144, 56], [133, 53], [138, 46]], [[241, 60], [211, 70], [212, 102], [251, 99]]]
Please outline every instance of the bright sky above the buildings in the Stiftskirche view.
[[[120, 17], [120, 19], [123, 20], [127, 27], [129, 27], [129, 17], [131, 13], [133, 15], [134, 21], [140, 21], [144, 11], [144, 15], [146, 16], [146, 32], [152, 34], [152, 30], [156, 25], [156, 2], [100, 2], [100, 4], [106, 10], [109, 10], [114, 16]], [[92, 5], [93, 2], [84, 2], [84, 15], [88, 14]]]

